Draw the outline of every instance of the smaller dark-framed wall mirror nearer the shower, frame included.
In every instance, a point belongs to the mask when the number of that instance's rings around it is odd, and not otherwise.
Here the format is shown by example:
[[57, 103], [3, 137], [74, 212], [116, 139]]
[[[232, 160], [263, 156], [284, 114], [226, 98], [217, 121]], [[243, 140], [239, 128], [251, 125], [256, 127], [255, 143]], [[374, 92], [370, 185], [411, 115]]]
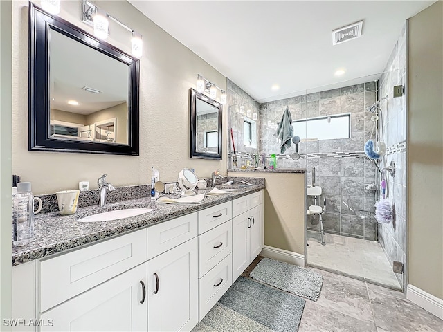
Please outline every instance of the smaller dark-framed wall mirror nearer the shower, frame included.
[[221, 160], [221, 104], [192, 88], [189, 100], [190, 158]]

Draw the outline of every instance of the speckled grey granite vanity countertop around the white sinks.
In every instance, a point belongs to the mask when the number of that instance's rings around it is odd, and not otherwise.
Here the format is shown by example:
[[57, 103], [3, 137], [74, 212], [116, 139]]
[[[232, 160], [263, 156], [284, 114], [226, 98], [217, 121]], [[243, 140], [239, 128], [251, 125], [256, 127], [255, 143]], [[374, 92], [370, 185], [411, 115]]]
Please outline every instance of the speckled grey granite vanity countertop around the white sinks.
[[[229, 187], [239, 189], [239, 191], [218, 196], [206, 196], [204, 201], [199, 204], [159, 204], [151, 201], [150, 197], [145, 197], [107, 204], [103, 208], [98, 208], [97, 206], [78, 208], [75, 214], [69, 216], [61, 216], [59, 212], [37, 214], [34, 218], [33, 241], [26, 246], [12, 247], [12, 266], [17, 266], [27, 261], [40, 259], [57, 252], [63, 252], [108, 237], [114, 237], [118, 234], [138, 230], [168, 219], [177, 218], [185, 214], [209, 208], [213, 205], [231, 201], [246, 194], [252, 194], [253, 192], [264, 189], [264, 181], [258, 184], [257, 187], [241, 187], [238, 185], [230, 185]], [[195, 192], [202, 194], [209, 192], [211, 189], [212, 188], [195, 190]], [[223, 189], [223, 186], [219, 187], [219, 189]], [[154, 210], [147, 214], [114, 221], [93, 223], [76, 221], [91, 214], [121, 210], [123, 208], [152, 208]]]

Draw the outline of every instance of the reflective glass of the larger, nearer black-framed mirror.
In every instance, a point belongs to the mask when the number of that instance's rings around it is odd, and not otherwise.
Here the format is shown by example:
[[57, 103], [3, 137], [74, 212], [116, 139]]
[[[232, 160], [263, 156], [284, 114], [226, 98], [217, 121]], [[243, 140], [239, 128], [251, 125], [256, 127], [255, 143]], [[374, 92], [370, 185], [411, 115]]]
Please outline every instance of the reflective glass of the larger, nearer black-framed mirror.
[[127, 145], [127, 64], [56, 30], [50, 38], [49, 138]]

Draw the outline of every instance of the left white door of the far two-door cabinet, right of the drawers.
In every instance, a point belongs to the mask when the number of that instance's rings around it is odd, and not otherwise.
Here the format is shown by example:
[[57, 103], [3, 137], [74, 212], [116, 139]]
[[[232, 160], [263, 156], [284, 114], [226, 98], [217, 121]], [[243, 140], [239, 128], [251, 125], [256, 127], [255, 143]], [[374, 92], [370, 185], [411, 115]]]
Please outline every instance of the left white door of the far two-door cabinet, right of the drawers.
[[249, 212], [233, 218], [233, 282], [250, 263], [250, 227], [251, 214]]

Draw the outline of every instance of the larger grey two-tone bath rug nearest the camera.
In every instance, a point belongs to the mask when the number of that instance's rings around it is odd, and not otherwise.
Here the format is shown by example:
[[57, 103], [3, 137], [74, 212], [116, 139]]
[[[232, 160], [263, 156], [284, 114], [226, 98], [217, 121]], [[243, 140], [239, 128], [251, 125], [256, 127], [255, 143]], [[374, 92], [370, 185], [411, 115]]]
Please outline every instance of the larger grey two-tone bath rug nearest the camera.
[[293, 332], [305, 300], [252, 279], [239, 277], [192, 332]]

